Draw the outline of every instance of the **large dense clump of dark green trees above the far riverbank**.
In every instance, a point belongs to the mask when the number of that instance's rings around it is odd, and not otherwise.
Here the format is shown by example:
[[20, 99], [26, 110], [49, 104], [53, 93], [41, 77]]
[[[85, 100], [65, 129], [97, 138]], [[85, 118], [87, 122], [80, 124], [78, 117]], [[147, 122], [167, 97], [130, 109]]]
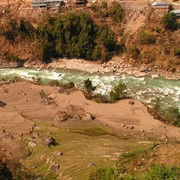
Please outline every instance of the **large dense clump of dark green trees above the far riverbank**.
[[39, 57], [45, 63], [52, 57], [104, 61], [116, 50], [114, 33], [108, 27], [98, 27], [87, 14], [47, 17], [46, 21], [36, 31]]

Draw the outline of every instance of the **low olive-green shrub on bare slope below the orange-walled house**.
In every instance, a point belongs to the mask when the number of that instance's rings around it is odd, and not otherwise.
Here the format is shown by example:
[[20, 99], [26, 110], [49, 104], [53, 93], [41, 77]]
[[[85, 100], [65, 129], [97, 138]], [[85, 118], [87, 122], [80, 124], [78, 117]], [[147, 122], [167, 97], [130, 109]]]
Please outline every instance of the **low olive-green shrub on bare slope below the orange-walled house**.
[[140, 31], [138, 33], [138, 39], [141, 44], [153, 44], [156, 41], [154, 35], [146, 31]]

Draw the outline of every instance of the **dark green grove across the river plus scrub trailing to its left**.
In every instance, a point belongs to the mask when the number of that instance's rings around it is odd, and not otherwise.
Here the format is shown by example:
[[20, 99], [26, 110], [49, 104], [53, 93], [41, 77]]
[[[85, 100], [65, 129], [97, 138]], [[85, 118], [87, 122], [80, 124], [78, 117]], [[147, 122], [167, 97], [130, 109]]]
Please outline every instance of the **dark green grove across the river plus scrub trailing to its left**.
[[[107, 61], [118, 50], [115, 33], [106, 25], [97, 25], [87, 13], [47, 16], [45, 23], [36, 28], [23, 19], [19, 23], [10, 20], [7, 26], [3, 34], [9, 42], [17, 36], [30, 38], [38, 48], [37, 56], [45, 63], [59, 57]], [[19, 60], [11, 53], [4, 55], [9, 61]]]

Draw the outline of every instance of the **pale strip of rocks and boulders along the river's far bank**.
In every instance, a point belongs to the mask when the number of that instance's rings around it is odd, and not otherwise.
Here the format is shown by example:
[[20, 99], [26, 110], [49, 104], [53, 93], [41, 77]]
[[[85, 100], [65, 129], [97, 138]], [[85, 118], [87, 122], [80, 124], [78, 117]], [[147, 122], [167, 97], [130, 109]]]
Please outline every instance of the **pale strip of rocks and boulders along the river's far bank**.
[[[89, 72], [90, 74], [108, 74], [115, 73], [117, 75], [133, 75], [135, 77], [149, 76], [152, 78], [164, 77], [165, 79], [180, 80], [180, 72], [172, 73], [165, 70], [158, 69], [154, 66], [153, 68], [147, 65], [141, 65], [139, 67], [132, 66], [131, 64], [125, 63], [125, 57], [121, 59], [114, 57], [107, 63], [99, 63], [87, 61], [84, 59], [57, 59], [53, 60], [52, 63], [43, 64], [40, 61], [37, 62], [25, 62], [24, 67], [26, 68], [37, 68], [37, 69], [74, 69]], [[1, 63], [0, 68], [15, 68], [19, 67], [18, 63]]]

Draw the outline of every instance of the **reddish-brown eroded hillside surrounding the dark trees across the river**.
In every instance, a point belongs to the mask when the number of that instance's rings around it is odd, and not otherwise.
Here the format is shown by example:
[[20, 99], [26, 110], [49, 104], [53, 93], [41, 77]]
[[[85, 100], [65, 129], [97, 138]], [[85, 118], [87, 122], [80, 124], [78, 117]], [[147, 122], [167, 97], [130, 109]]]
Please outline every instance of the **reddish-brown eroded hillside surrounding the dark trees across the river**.
[[[145, 64], [149, 67], [156, 67], [170, 72], [179, 72], [179, 44], [180, 30], [169, 31], [162, 23], [163, 12], [152, 9], [146, 1], [121, 1], [124, 16], [118, 20], [118, 11], [109, 12], [109, 3], [70, 9], [61, 9], [60, 12], [45, 9], [32, 9], [31, 1], [6, 1], [0, 3], [0, 61], [14, 63], [14, 60], [39, 62], [37, 56], [37, 44], [32, 39], [21, 39], [18, 35], [13, 42], [10, 42], [4, 35], [3, 30], [9, 28], [10, 20], [17, 23], [20, 19], [29, 21], [34, 27], [44, 21], [48, 14], [57, 16], [67, 12], [79, 13], [88, 12], [92, 19], [100, 25], [107, 25], [115, 32], [117, 42], [124, 46], [123, 54], [116, 54], [125, 59], [125, 63], [134, 66]], [[116, 7], [114, 6], [114, 9]], [[113, 16], [113, 13], [115, 16]], [[112, 16], [111, 16], [112, 15]], [[7, 53], [12, 57], [7, 58]]]

